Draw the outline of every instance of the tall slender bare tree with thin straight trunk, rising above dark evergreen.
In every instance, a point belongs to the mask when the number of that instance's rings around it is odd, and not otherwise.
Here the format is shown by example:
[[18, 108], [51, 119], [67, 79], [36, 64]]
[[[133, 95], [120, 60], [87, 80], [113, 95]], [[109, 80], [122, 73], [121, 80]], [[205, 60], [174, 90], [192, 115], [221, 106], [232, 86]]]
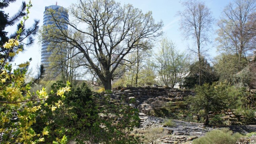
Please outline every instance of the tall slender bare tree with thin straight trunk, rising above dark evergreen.
[[210, 9], [197, 0], [188, 0], [182, 3], [184, 11], [178, 11], [181, 16], [180, 29], [185, 39], [192, 38], [196, 43], [196, 50], [199, 61], [199, 85], [201, 85], [201, 62], [203, 45], [209, 42], [209, 31], [211, 31], [214, 18]]

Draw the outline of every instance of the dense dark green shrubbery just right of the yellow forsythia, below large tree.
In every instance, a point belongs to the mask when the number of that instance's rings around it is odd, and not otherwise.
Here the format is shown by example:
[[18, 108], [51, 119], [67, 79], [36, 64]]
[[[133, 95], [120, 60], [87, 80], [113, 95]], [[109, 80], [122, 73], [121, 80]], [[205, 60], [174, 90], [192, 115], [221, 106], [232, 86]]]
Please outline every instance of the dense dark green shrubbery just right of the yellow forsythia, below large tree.
[[[62, 85], [61, 81], [54, 83], [53, 91]], [[60, 109], [51, 112], [50, 108], [43, 108], [46, 113], [38, 118], [34, 127], [37, 130], [49, 128], [46, 143], [63, 135], [77, 143], [138, 143], [138, 139], [130, 135], [139, 124], [138, 110], [121, 103], [109, 104], [109, 100], [109, 95], [104, 98], [92, 95], [91, 89], [83, 83], [71, 88]], [[48, 104], [58, 101], [57, 97], [47, 99]]]

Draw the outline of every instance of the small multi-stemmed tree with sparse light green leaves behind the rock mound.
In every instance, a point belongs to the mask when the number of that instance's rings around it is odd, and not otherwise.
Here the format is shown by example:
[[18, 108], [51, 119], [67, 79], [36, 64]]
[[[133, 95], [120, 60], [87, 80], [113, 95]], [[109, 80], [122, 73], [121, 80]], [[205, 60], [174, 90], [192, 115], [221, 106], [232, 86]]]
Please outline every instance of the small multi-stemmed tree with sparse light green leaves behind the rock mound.
[[188, 74], [189, 60], [185, 52], [176, 49], [175, 44], [163, 38], [155, 54], [155, 68], [159, 73], [160, 84], [174, 87], [176, 83], [182, 85], [184, 77]]

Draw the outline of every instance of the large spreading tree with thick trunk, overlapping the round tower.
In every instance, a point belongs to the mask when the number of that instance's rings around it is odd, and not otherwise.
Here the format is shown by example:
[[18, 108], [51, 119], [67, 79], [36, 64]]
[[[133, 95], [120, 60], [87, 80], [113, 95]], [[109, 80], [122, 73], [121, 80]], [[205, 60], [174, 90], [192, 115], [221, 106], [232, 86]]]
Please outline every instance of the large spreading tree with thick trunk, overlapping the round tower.
[[[148, 49], [148, 43], [162, 34], [163, 24], [155, 22], [151, 11], [144, 14], [130, 4], [121, 6], [114, 0], [79, 0], [70, 8], [74, 20], [69, 22], [57, 19], [58, 12], [48, 12], [55, 23], [52, 29], [47, 28], [43, 39], [67, 42], [77, 48], [86, 60], [81, 66], [95, 72], [105, 89], [111, 89], [111, 79], [117, 77], [115, 70], [129, 63], [125, 59], [128, 53], [136, 47]], [[63, 23], [74, 31], [61, 28]]]

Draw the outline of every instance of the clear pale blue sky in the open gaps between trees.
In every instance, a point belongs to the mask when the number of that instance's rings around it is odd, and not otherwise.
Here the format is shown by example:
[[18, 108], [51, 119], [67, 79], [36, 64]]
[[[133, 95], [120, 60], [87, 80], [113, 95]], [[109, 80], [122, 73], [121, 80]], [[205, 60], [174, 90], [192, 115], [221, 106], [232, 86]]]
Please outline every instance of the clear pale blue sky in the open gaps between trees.
[[[20, 7], [23, 0], [17, 0], [14, 3], [11, 3], [9, 7], [3, 9], [6, 13], [9, 13], [11, 16], [17, 9]], [[28, 2], [29, 0], [25, 0]], [[55, 5], [56, 0], [31, 0], [33, 7], [30, 10], [29, 20], [26, 22], [27, 26], [31, 26], [33, 24], [34, 19], [39, 19], [40, 24], [42, 26], [43, 22], [43, 12], [45, 6]], [[194, 42], [192, 40], [184, 40], [182, 37], [182, 32], [179, 30], [179, 16], [176, 16], [177, 11], [182, 11], [182, 0], [116, 0], [123, 4], [132, 4], [135, 8], [139, 8], [146, 13], [148, 11], [152, 11], [153, 18], [156, 22], [163, 21], [164, 27], [163, 32], [164, 36], [169, 40], [175, 43], [177, 49], [180, 51], [188, 51], [188, 47], [195, 48]], [[232, 0], [203, 0], [205, 5], [210, 8], [215, 17], [216, 21], [220, 18], [223, 8], [228, 5]], [[57, 4], [63, 6], [64, 8], [69, 8], [72, 3], [76, 3], [76, 0], [57, 0]], [[216, 37], [215, 31], [217, 30], [216, 24], [213, 25], [212, 32], [212, 40]], [[15, 30], [14, 27], [7, 27], [5, 29], [7, 32], [13, 32]], [[15, 58], [15, 62], [20, 64], [22, 62], [26, 62], [29, 58], [32, 58], [32, 62], [30, 64], [33, 71], [35, 71], [36, 66], [40, 65], [41, 59], [41, 44], [38, 42], [38, 38], [35, 37], [36, 41], [34, 45], [31, 47], [25, 47], [25, 52], [18, 55]], [[158, 43], [156, 42], [154, 50], [157, 51]], [[208, 59], [211, 59], [217, 55], [217, 51], [214, 45], [208, 46], [210, 49], [207, 52]]]

